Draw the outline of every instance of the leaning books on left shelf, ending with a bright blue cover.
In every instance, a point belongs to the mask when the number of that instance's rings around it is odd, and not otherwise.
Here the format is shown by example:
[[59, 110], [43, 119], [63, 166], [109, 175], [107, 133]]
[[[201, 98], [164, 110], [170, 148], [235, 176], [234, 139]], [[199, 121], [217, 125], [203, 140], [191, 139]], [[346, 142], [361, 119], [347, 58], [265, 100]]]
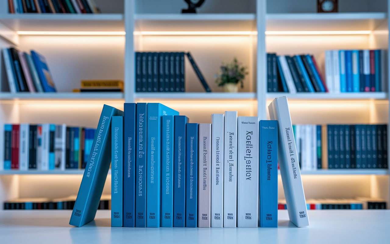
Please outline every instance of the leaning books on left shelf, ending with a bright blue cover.
[[55, 92], [55, 85], [43, 55], [16, 48], [3, 48], [9, 90], [16, 92]]

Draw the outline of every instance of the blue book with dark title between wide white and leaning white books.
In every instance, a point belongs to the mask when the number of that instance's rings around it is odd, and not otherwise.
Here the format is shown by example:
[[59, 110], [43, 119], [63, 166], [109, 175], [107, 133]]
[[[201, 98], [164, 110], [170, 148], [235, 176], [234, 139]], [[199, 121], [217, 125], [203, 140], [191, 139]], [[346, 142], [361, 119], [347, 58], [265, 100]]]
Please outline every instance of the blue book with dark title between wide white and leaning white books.
[[259, 123], [259, 226], [278, 227], [278, 121]]

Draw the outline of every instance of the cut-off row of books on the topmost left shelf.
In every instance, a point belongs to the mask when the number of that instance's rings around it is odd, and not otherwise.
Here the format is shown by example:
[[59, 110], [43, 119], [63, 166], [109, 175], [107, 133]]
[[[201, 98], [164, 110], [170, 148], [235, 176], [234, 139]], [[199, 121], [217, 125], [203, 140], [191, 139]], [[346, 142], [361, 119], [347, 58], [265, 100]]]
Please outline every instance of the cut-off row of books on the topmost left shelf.
[[100, 13], [95, 0], [8, 0], [9, 12], [23, 13]]

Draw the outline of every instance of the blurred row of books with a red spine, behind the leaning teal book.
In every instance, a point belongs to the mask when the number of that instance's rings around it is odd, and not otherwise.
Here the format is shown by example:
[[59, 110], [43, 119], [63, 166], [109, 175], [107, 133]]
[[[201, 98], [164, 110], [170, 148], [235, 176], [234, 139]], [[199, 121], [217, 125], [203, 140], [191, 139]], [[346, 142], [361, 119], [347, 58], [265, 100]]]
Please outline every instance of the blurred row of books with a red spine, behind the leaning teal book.
[[4, 170], [85, 169], [96, 129], [4, 125]]

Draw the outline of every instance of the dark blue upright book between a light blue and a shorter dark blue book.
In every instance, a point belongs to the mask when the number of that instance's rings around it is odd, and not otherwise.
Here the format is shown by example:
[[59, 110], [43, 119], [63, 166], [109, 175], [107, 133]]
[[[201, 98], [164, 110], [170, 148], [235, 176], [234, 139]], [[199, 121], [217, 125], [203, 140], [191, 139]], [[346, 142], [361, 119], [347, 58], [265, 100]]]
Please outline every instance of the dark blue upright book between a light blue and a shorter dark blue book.
[[186, 116], [175, 116], [173, 227], [185, 226], [184, 218], [186, 214], [186, 123], [188, 123], [188, 118]]

